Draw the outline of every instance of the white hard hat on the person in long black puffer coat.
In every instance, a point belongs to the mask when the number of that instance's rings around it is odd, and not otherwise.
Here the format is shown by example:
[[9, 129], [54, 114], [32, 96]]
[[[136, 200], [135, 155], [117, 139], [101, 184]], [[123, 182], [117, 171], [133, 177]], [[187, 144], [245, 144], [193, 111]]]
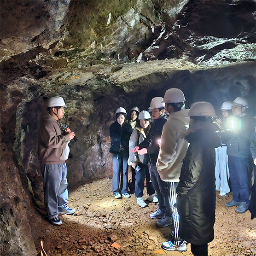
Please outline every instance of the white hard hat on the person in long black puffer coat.
[[216, 116], [215, 109], [207, 101], [198, 101], [191, 105], [187, 116]]

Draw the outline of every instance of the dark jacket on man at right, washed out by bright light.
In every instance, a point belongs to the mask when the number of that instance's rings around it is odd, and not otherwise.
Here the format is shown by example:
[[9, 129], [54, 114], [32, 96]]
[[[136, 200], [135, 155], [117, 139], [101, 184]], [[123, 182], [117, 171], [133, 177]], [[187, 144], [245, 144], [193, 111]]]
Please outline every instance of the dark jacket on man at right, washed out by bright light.
[[227, 139], [227, 155], [250, 158], [250, 136], [253, 132], [253, 119], [249, 116], [233, 116], [234, 128], [220, 133]]

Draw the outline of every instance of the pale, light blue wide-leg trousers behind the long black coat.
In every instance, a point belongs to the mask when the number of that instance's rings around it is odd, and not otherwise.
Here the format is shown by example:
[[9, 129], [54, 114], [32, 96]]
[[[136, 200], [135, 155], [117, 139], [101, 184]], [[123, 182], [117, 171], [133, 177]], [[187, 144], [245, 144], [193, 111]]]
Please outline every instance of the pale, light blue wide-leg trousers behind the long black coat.
[[227, 146], [215, 148], [215, 188], [221, 193], [227, 194], [230, 192], [228, 186], [229, 169], [227, 164]]

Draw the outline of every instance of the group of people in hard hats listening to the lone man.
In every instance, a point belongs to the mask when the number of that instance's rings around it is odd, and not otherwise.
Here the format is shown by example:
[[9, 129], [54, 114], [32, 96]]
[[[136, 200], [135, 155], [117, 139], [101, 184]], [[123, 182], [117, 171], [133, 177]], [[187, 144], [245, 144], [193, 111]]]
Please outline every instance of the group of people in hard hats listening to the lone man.
[[[240, 213], [249, 207], [253, 125], [244, 122], [248, 104], [244, 105], [246, 100], [242, 97], [221, 106], [222, 121], [214, 121], [215, 109], [209, 102], [196, 102], [185, 109], [185, 101], [180, 89], [170, 88], [164, 98], [151, 99], [151, 113], [134, 107], [125, 122], [126, 110], [116, 110], [116, 122], [110, 127], [112, 191], [115, 198], [130, 197], [128, 164], [131, 165], [137, 203], [141, 207], [147, 205], [142, 198], [146, 177], [147, 200], [158, 201], [158, 209], [150, 217], [158, 219], [159, 227], [173, 228], [171, 239], [163, 242], [162, 248], [186, 251], [189, 242], [193, 255], [208, 255], [207, 244], [214, 239], [215, 189], [221, 190], [222, 196], [230, 191], [228, 166], [233, 200], [225, 205], [239, 205], [236, 211]], [[236, 118], [227, 121], [225, 111]]]

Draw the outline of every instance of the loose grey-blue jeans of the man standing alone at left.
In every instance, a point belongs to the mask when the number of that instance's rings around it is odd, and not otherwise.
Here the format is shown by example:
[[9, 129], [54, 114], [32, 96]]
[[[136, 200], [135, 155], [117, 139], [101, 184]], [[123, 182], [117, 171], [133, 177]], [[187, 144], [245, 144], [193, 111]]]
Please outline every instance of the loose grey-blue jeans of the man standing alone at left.
[[58, 216], [58, 210], [68, 208], [68, 180], [66, 163], [41, 164], [44, 201], [49, 219]]

